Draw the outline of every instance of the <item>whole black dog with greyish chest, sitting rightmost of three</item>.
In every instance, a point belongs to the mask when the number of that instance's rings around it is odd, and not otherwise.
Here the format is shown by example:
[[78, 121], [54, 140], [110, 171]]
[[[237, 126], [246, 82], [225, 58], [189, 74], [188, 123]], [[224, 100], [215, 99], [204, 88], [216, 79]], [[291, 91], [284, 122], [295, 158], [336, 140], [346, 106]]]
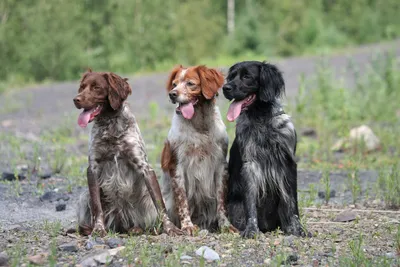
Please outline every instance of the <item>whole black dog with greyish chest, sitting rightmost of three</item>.
[[258, 61], [233, 65], [223, 92], [234, 100], [237, 119], [230, 150], [228, 213], [245, 237], [280, 227], [302, 235], [297, 205], [296, 131], [279, 98], [285, 83], [279, 69]]

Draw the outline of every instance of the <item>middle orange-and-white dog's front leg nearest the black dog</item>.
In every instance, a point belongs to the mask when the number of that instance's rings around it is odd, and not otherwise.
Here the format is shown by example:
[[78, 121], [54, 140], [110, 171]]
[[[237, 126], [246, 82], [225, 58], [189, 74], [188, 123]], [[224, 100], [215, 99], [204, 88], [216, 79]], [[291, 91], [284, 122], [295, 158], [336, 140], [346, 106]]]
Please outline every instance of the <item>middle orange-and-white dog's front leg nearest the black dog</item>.
[[229, 178], [228, 173], [228, 164], [225, 163], [223, 166], [223, 172], [217, 175], [217, 192], [218, 192], [218, 199], [217, 199], [217, 216], [218, 216], [218, 226], [221, 232], [229, 232], [229, 233], [238, 233], [237, 230], [229, 221], [228, 217], [226, 216], [226, 192], [227, 192], [227, 183]]

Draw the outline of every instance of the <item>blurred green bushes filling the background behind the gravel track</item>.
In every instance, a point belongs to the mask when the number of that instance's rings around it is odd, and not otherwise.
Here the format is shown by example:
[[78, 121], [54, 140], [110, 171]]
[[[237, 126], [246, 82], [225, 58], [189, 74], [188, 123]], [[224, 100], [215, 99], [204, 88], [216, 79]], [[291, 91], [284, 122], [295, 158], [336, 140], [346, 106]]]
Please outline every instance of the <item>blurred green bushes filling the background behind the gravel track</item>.
[[399, 36], [395, 0], [2, 0], [0, 81], [76, 79], [205, 59], [288, 56]]

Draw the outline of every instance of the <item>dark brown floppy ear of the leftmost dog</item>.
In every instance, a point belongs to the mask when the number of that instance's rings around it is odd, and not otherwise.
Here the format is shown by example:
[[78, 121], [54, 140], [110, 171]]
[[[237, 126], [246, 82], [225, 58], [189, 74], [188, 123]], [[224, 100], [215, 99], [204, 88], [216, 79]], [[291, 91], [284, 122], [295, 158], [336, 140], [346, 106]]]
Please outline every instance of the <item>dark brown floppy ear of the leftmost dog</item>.
[[106, 72], [103, 75], [109, 85], [108, 101], [112, 109], [117, 110], [128, 98], [128, 95], [132, 93], [132, 89], [127, 82], [127, 78], [123, 79], [112, 72]]

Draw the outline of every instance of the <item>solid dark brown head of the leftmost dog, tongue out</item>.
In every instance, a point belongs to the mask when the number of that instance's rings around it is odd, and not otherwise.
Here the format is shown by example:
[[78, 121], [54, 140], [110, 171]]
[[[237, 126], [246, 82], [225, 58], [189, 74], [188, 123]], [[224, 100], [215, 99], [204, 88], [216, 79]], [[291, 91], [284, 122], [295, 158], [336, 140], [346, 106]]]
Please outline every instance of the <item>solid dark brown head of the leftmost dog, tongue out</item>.
[[78, 118], [79, 126], [85, 128], [102, 112], [120, 109], [132, 93], [127, 80], [112, 72], [92, 72], [90, 69], [85, 72], [74, 98], [76, 108], [83, 108]]

